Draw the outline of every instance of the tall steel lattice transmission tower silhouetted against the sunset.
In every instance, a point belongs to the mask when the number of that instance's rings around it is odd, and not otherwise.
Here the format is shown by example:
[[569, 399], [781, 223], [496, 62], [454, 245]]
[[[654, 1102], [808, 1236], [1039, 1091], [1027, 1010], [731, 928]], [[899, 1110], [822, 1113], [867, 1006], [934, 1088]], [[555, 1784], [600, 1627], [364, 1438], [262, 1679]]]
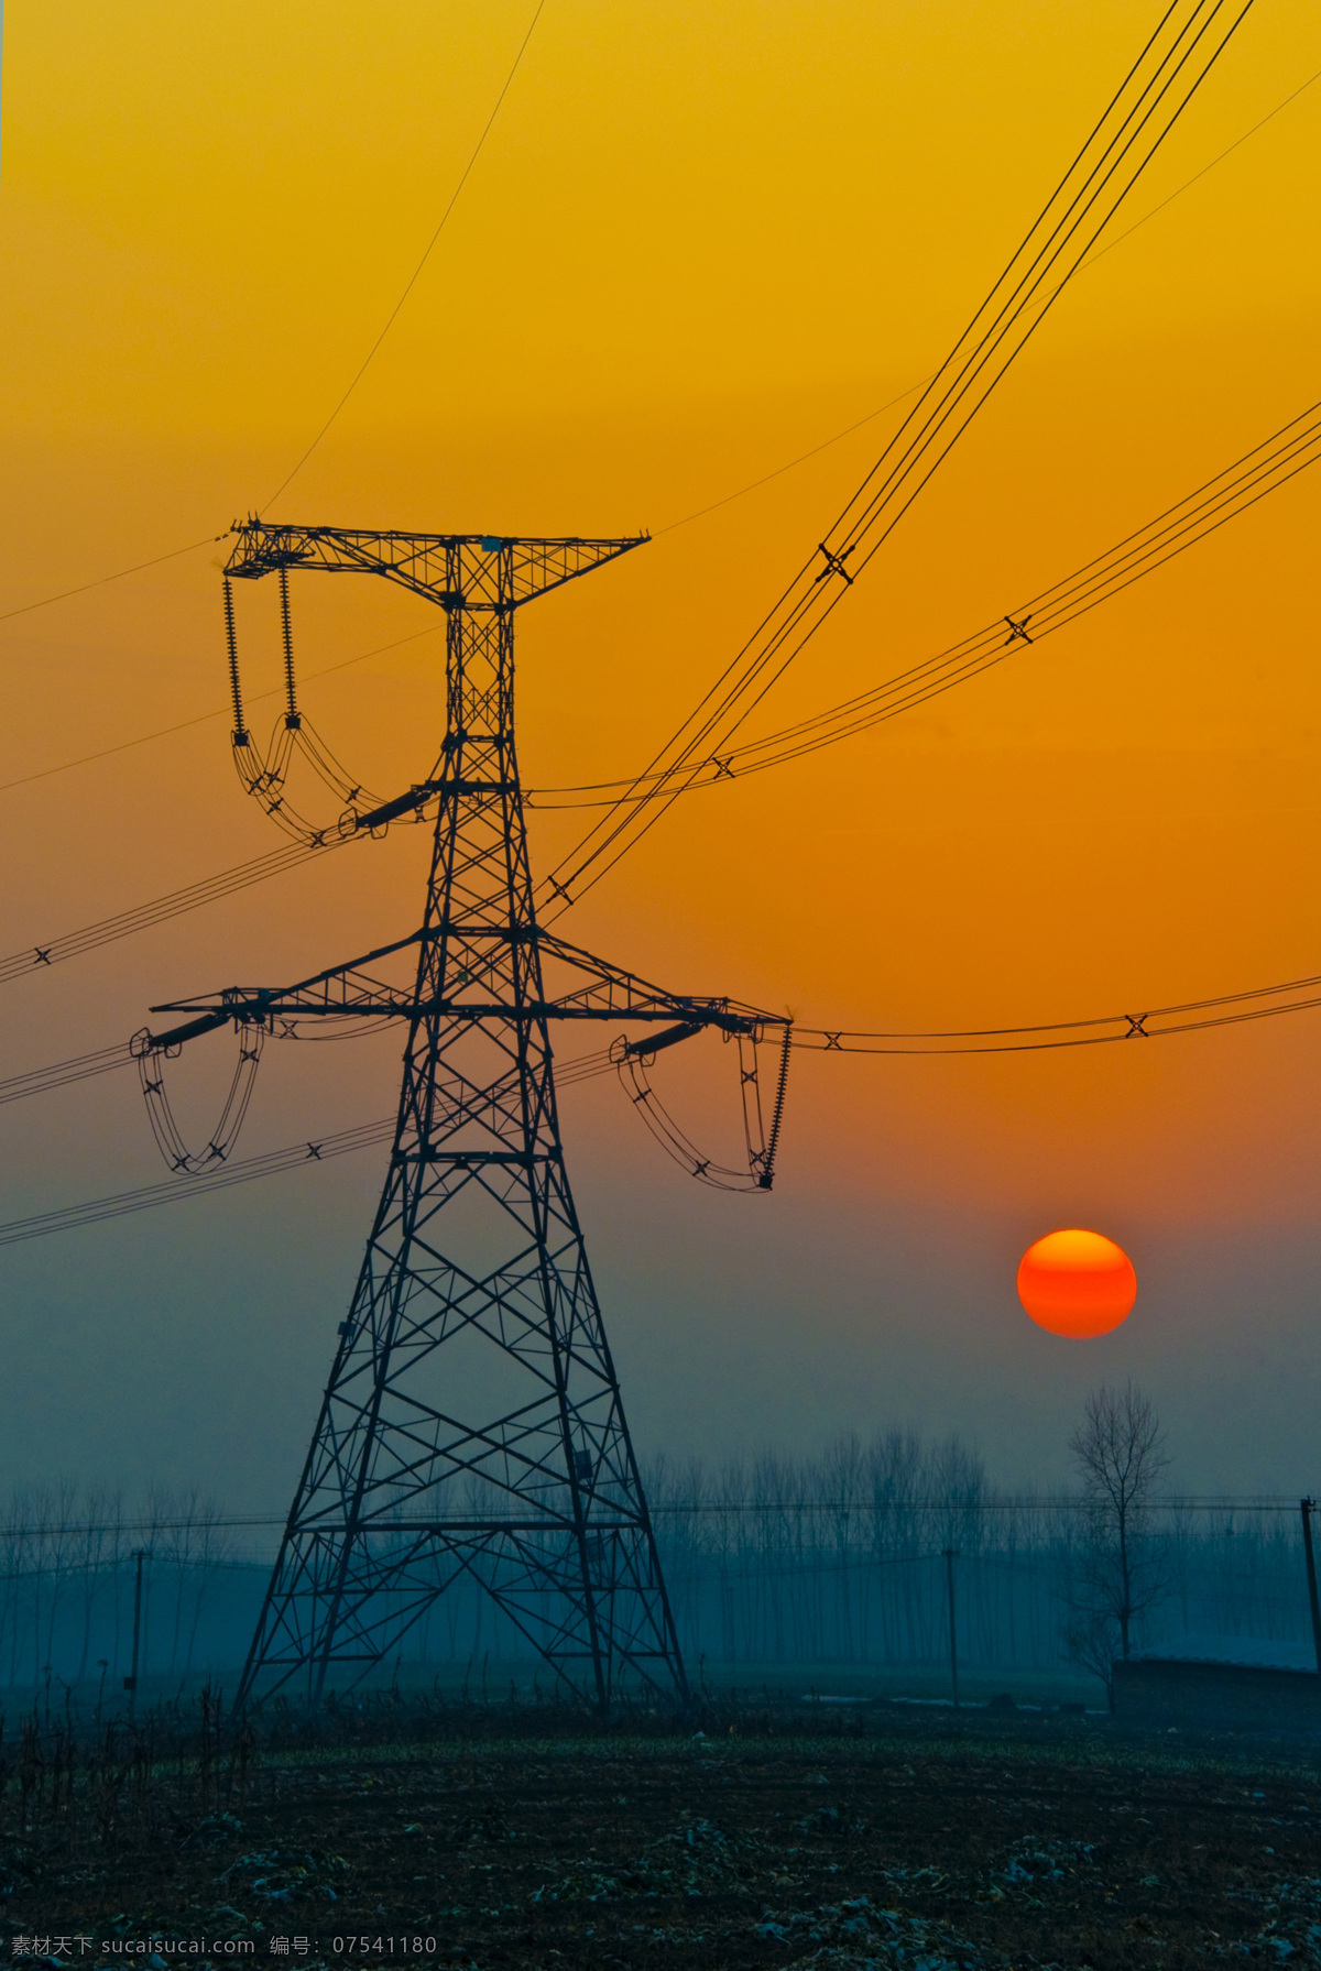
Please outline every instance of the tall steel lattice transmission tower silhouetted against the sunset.
[[[639, 1021], [633, 1060], [765, 1015], [666, 993], [538, 928], [515, 755], [515, 611], [639, 546], [341, 528], [235, 528], [231, 579], [367, 572], [448, 619], [448, 729], [434, 775], [353, 816], [436, 802], [422, 926], [288, 987], [154, 1011], [152, 1056], [235, 1023], [404, 1023], [388, 1173], [321, 1399], [239, 1703], [355, 1683], [463, 1577], [599, 1707], [627, 1683], [686, 1699], [674, 1618], [605, 1340], [556, 1112], [550, 1023]], [[227, 587], [235, 745], [248, 745]], [[410, 964], [412, 980], [388, 972]], [[568, 970], [554, 997], [546, 964]], [[655, 1031], [659, 1023], [670, 1023]], [[783, 1025], [783, 1023], [781, 1023]], [[248, 1054], [243, 1058], [250, 1058]], [[787, 1054], [785, 1054], [787, 1060]], [[156, 1084], [152, 1084], [156, 1086]], [[783, 1080], [781, 1080], [783, 1094]], [[777, 1108], [779, 1116], [779, 1108]], [[753, 1153], [769, 1189], [773, 1135]]]

